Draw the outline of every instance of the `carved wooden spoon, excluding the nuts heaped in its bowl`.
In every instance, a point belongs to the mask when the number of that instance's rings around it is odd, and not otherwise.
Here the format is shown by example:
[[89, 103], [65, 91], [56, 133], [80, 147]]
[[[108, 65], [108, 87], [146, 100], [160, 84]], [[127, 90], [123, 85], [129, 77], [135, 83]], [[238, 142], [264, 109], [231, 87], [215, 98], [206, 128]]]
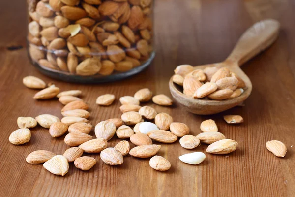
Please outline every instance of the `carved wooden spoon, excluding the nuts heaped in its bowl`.
[[280, 23], [276, 20], [267, 19], [255, 23], [238, 40], [231, 55], [221, 63], [194, 66], [195, 69], [204, 69], [205, 67], [222, 66], [228, 67], [244, 80], [247, 89], [244, 93], [234, 99], [226, 100], [205, 100], [194, 99], [182, 93], [181, 87], [173, 83], [172, 77], [169, 81], [170, 92], [175, 100], [180, 103], [187, 111], [194, 114], [209, 115], [216, 114], [242, 103], [249, 97], [252, 91], [252, 83], [248, 76], [239, 66], [259, 54], [270, 46], [279, 34]]

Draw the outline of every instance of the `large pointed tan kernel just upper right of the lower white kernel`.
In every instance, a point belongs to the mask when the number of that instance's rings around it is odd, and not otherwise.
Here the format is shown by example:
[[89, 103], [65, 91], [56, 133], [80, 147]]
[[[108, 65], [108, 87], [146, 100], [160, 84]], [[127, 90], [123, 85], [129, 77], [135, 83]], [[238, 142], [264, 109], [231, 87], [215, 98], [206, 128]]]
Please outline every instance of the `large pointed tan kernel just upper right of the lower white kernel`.
[[237, 142], [232, 139], [222, 139], [210, 144], [206, 150], [208, 153], [223, 155], [236, 150]]

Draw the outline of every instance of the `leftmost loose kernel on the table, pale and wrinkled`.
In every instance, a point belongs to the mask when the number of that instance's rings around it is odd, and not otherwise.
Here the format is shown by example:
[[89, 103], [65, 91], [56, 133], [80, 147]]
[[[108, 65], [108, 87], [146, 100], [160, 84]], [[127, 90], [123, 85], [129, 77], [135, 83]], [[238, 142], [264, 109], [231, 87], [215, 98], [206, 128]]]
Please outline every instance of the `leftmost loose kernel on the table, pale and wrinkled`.
[[9, 142], [14, 145], [20, 145], [29, 142], [30, 138], [31, 132], [29, 129], [18, 129], [9, 135]]

